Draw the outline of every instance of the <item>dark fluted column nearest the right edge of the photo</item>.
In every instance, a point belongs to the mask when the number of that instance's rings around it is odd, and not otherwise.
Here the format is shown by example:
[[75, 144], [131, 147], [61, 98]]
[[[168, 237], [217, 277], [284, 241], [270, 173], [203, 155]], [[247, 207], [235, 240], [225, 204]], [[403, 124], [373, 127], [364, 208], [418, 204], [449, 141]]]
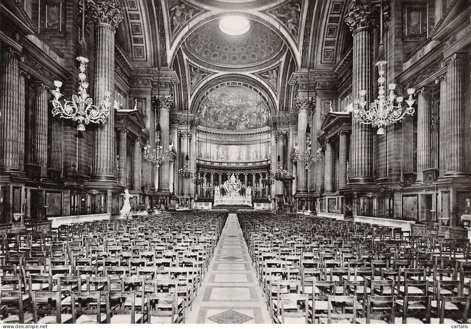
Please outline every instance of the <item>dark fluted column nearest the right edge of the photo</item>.
[[[445, 176], [466, 176], [464, 163], [464, 75], [466, 57], [464, 54], [453, 54], [443, 65], [447, 65], [447, 117], [446, 130], [447, 152]], [[441, 118], [441, 117], [440, 117]], [[469, 124], [466, 123], [466, 124]], [[467, 142], [469, 143], [469, 141]], [[468, 144], [469, 145], [469, 144]]]

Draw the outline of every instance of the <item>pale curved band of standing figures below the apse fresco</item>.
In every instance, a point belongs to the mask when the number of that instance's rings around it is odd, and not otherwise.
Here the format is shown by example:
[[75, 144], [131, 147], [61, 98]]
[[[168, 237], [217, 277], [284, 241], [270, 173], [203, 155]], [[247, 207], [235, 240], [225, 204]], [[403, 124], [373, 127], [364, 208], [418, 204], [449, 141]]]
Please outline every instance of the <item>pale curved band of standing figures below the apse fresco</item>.
[[207, 144], [198, 141], [198, 159], [221, 162], [250, 162], [268, 160], [268, 143], [251, 145]]

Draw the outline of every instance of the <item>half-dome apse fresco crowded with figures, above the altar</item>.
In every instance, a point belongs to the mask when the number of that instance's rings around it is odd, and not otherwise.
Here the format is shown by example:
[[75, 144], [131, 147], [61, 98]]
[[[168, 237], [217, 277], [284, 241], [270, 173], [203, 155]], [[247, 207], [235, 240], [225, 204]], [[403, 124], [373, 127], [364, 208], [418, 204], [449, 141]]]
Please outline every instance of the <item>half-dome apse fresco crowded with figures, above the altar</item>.
[[199, 109], [200, 125], [221, 130], [249, 130], [266, 127], [267, 103], [242, 86], [225, 86], [207, 95]]

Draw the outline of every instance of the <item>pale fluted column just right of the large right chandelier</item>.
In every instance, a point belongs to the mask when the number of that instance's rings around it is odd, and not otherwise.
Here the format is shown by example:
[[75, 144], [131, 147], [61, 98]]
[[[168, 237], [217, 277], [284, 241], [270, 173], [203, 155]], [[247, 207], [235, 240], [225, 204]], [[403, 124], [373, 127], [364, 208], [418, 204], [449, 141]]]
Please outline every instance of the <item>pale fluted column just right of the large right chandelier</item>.
[[432, 165], [431, 144], [432, 89], [422, 88], [417, 97], [417, 180], [422, 181], [424, 169]]

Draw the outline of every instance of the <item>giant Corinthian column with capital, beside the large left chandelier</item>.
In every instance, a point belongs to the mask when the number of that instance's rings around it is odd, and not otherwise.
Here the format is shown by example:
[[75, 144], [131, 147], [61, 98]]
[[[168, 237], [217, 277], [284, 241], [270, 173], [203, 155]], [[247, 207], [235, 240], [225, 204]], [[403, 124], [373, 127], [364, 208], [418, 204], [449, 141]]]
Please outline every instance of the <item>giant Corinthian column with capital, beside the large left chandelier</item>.
[[[109, 2], [106, 2], [108, 5]], [[87, 2], [89, 19], [95, 23], [95, 105], [99, 106], [106, 93], [114, 90], [114, 32], [122, 20], [119, 6], [105, 6], [105, 1]], [[114, 110], [111, 108], [104, 124], [95, 126], [93, 181], [116, 181], [116, 152], [114, 150]]]

